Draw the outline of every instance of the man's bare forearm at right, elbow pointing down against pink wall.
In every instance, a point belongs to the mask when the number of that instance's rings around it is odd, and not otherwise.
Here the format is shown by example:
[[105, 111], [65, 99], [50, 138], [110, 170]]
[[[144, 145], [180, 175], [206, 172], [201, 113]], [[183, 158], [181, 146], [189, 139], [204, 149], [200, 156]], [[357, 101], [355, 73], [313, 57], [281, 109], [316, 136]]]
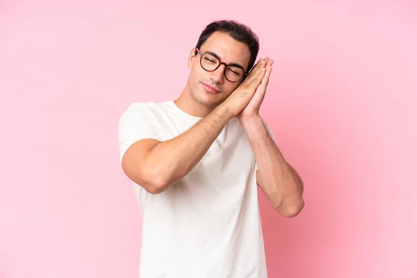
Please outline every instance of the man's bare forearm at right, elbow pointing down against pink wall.
[[240, 122], [259, 166], [256, 174], [259, 187], [277, 211], [286, 216], [296, 215], [304, 206], [300, 176], [279, 152], [261, 117], [250, 117]]

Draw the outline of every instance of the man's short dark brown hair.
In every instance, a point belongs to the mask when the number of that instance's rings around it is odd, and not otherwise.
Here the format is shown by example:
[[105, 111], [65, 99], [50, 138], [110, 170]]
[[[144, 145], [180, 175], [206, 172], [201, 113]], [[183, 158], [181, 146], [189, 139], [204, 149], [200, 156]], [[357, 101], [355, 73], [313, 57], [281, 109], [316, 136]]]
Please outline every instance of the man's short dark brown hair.
[[[227, 35], [230, 35], [231, 38], [234, 38], [234, 40], [247, 44], [250, 51], [250, 61], [249, 65], [247, 65], [247, 72], [249, 72], [254, 66], [256, 56], [258, 56], [258, 36], [249, 26], [246, 26], [245, 24], [234, 20], [219, 20], [211, 22], [211, 24], [208, 24], [206, 28], [204, 28], [199, 36], [196, 47], [198, 49], [202, 47], [202, 44], [204, 44], [204, 42], [206, 42], [206, 40], [215, 32], [227, 33]], [[197, 54], [197, 51], [195, 51], [195, 54]]]

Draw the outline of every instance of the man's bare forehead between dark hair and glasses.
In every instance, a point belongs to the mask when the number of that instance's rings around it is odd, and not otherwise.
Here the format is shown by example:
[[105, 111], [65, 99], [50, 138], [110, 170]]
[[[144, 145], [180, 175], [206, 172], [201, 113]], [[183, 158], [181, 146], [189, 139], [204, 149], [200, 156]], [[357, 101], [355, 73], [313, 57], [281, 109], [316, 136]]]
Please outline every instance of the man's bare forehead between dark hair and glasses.
[[250, 51], [247, 44], [238, 42], [226, 33], [213, 33], [200, 48], [201, 51], [214, 52], [224, 63], [238, 63], [245, 68], [249, 65]]

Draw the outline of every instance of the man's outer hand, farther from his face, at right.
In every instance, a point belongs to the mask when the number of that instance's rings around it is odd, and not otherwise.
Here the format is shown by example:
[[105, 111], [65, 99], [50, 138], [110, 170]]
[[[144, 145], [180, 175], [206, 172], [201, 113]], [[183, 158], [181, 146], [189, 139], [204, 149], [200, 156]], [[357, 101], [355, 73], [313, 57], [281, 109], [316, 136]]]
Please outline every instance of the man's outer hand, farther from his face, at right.
[[265, 97], [266, 87], [268, 86], [273, 63], [274, 61], [270, 60], [270, 58], [265, 58], [265, 74], [263, 75], [263, 79], [259, 86], [256, 88], [256, 91], [252, 99], [250, 99], [250, 102], [238, 114], [239, 120], [242, 120], [244, 117], [259, 116], [259, 108], [261, 108], [263, 98]]

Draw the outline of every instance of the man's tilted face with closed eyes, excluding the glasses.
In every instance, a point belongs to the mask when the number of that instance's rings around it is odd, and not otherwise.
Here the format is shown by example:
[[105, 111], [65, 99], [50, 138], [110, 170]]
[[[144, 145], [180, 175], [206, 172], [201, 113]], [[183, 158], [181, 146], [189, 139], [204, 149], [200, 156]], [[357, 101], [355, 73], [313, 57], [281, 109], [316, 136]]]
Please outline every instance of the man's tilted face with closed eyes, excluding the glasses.
[[[238, 64], [247, 72], [250, 61], [250, 50], [247, 44], [238, 42], [225, 33], [215, 32], [202, 44], [199, 51], [210, 51], [216, 54], [221, 62], [226, 64]], [[188, 88], [193, 98], [209, 108], [214, 108], [229, 97], [242, 82], [230, 82], [224, 76], [225, 65], [220, 65], [217, 70], [207, 72], [200, 65], [201, 55], [195, 55], [194, 50], [188, 59], [188, 67], [191, 69], [188, 78]]]

